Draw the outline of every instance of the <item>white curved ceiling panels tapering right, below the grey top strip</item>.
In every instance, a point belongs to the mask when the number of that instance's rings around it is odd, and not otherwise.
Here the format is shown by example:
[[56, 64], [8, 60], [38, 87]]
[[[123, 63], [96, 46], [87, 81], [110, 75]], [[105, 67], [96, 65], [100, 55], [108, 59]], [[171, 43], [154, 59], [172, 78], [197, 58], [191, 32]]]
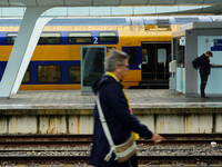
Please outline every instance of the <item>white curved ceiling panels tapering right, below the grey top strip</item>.
[[[38, 7], [37, 7], [38, 8]], [[0, 8], [0, 17], [23, 17], [26, 7]], [[222, 6], [173, 6], [173, 7], [56, 7], [43, 17], [119, 17], [119, 16], [198, 16], [221, 14]]]

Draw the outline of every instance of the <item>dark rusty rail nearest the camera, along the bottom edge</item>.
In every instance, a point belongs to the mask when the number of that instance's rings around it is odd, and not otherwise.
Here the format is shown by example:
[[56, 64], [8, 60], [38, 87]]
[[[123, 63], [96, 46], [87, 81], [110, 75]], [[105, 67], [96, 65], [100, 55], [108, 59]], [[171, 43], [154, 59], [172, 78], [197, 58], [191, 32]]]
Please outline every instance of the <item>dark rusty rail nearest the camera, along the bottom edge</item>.
[[[139, 164], [200, 164], [205, 163], [208, 166], [211, 164], [221, 164], [222, 156], [139, 156]], [[0, 163], [11, 161], [13, 164], [49, 164], [59, 161], [60, 164], [87, 164], [89, 156], [0, 156]], [[190, 166], [190, 165], [189, 165]]]

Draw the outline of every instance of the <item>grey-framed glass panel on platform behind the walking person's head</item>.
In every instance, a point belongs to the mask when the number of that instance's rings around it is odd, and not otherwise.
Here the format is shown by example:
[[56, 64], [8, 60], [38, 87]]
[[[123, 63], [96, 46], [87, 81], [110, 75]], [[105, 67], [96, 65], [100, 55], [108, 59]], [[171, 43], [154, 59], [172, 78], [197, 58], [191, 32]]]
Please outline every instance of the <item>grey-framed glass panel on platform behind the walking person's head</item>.
[[104, 73], [105, 46], [81, 47], [81, 95], [92, 95], [92, 84]]

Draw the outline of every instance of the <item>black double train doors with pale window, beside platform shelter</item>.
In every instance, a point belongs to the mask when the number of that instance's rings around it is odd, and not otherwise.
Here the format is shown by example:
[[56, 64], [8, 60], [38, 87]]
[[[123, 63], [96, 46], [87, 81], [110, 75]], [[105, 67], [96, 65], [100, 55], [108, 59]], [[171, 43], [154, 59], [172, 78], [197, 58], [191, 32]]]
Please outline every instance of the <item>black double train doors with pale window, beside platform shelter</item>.
[[171, 43], [142, 42], [142, 86], [169, 86]]

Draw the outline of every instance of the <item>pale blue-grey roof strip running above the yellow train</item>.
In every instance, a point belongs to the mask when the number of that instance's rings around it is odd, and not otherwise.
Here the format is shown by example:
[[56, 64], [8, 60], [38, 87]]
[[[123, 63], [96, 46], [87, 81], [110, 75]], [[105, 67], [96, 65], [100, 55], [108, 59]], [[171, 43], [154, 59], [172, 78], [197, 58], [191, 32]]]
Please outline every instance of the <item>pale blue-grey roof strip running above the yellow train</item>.
[[[0, 27], [20, 26], [22, 18], [0, 18]], [[142, 24], [186, 24], [199, 21], [221, 21], [211, 17], [65, 17], [56, 18], [47, 26], [142, 26]]]

